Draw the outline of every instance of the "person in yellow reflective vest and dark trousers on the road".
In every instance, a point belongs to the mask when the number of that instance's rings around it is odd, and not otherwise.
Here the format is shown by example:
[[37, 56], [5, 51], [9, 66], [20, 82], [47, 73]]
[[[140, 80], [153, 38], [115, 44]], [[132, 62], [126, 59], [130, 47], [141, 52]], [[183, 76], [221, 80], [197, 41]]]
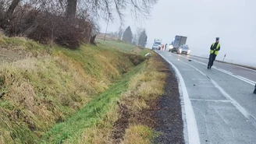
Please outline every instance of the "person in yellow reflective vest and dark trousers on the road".
[[208, 62], [208, 69], [212, 68], [213, 62], [215, 61], [215, 58], [220, 50], [220, 44], [219, 44], [219, 37], [216, 37], [216, 42], [213, 43], [210, 47], [210, 56], [209, 56], [209, 62]]

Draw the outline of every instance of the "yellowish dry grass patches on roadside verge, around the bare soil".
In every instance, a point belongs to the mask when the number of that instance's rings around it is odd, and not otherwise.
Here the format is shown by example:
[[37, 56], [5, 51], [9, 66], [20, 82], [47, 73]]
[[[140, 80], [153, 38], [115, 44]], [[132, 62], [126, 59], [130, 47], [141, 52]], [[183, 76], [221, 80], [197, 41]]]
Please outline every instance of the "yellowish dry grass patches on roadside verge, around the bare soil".
[[[165, 73], [158, 72], [158, 65], [162, 62], [156, 61], [155, 57], [150, 58], [141, 67], [140, 72], [133, 76], [128, 83], [128, 90], [122, 93], [121, 104], [128, 107], [130, 114], [137, 114], [145, 108], [148, 108], [147, 101], [160, 97], [163, 93], [165, 84]], [[114, 122], [120, 117], [118, 115], [119, 107], [113, 107], [94, 128], [88, 128], [80, 135], [77, 142], [67, 143], [113, 143], [112, 131]], [[130, 121], [129, 128], [121, 143], [123, 144], [149, 144], [156, 135], [155, 132], [146, 125], [140, 125]]]

